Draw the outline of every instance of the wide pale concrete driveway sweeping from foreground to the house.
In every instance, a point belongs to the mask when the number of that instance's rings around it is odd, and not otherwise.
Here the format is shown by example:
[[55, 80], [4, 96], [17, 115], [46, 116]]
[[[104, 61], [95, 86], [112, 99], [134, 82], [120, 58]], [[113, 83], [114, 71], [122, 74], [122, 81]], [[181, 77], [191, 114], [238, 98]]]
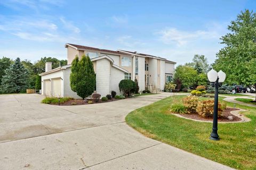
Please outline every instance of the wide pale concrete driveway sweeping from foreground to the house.
[[170, 95], [84, 106], [0, 95], [0, 169], [231, 169], [126, 125], [128, 113]]

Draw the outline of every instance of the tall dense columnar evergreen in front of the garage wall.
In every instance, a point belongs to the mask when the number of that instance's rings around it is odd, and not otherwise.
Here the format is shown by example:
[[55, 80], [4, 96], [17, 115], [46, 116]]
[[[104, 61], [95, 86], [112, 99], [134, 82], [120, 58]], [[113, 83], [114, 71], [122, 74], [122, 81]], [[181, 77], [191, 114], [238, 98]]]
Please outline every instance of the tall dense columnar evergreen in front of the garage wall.
[[83, 55], [78, 61], [76, 56], [71, 64], [70, 87], [78, 96], [90, 96], [96, 87], [96, 75], [89, 56]]

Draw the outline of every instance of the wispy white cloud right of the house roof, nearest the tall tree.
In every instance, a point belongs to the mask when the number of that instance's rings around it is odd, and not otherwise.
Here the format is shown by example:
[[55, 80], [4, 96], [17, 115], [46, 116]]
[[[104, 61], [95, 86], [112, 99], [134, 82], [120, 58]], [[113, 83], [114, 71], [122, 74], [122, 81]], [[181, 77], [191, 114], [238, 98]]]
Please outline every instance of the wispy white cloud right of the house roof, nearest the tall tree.
[[186, 45], [189, 41], [198, 39], [216, 39], [220, 35], [215, 30], [182, 31], [176, 28], [166, 28], [156, 33], [165, 44]]

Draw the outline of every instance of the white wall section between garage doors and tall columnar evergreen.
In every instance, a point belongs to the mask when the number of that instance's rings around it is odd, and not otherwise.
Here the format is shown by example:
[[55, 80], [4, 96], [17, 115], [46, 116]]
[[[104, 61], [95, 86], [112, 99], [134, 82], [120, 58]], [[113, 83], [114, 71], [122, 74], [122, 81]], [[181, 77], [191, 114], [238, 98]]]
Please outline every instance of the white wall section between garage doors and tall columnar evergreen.
[[81, 97], [79, 97], [76, 92], [71, 90], [70, 87], [70, 73], [71, 73], [71, 67], [68, 67], [66, 70], [63, 70], [64, 72], [64, 97], [73, 97], [75, 99], [81, 99]]

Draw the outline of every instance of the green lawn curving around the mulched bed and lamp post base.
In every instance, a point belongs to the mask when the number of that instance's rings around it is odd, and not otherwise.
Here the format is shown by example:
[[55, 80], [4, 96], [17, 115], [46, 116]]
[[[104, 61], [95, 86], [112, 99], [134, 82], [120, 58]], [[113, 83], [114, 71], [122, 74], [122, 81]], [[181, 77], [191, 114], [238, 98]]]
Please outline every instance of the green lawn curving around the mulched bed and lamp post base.
[[[126, 122], [146, 137], [162, 141], [215, 162], [237, 168], [256, 169], [256, 108], [247, 109], [246, 123], [219, 124], [220, 141], [209, 139], [212, 123], [195, 122], [170, 114], [172, 103], [184, 96], [159, 100], [126, 116]], [[220, 101], [224, 97], [220, 97]], [[227, 103], [232, 107], [232, 103]]]

